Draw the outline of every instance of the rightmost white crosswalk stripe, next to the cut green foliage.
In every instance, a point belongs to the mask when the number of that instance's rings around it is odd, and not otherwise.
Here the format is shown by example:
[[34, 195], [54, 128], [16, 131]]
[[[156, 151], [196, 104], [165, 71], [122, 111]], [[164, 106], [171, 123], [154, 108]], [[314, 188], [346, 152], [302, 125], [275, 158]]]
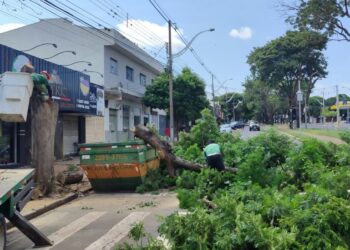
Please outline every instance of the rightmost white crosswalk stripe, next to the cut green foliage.
[[85, 250], [113, 249], [115, 245], [129, 233], [133, 224], [144, 220], [149, 214], [149, 212], [133, 212], [129, 214], [112, 227], [105, 235], [85, 248]]

